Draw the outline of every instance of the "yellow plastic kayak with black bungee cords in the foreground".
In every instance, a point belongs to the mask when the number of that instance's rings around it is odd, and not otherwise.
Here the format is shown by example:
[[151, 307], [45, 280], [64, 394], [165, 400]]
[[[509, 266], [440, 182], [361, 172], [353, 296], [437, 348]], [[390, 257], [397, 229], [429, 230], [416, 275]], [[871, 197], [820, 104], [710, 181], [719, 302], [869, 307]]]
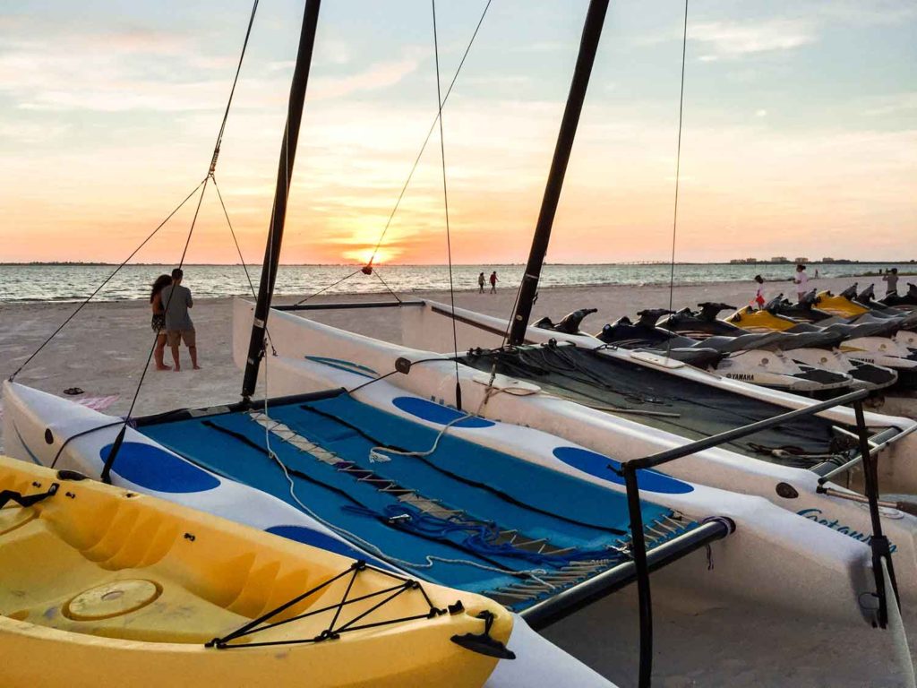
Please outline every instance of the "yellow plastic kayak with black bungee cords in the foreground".
[[29, 686], [480, 686], [476, 594], [0, 457], [0, 674]]

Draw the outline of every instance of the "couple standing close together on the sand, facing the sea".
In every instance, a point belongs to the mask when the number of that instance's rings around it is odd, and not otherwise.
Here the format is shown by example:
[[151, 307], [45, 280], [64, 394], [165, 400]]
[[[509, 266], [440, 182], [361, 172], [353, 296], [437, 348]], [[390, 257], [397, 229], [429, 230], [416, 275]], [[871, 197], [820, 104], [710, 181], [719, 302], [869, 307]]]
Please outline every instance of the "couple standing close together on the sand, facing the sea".
[[162, 274], [156, 278], [149, 294], [149, 305], [153, 310], [150, 324], [156, 333], [153, 359], [156, 361], [158, 371], [172, 370], [172, 367], [166, 365], [162, 360], [167, 343], [171, 349], [172, 361], [175, 363], [174, 370], [176, 372], [182, 370], [178, 356], [178, 347], [182, 341], [188, 347], [193, 369], [195, 371], [201, 369], [201, 366], [197, 364], [197, 340], [194, 324], [191, 316], [188, 315], [188, 309], [193, 307], [194, 302], [191, 298], [191, 290], [182, 286], [183, 277], [184, 272], [181, 268], [175, 268], [171, 276]]

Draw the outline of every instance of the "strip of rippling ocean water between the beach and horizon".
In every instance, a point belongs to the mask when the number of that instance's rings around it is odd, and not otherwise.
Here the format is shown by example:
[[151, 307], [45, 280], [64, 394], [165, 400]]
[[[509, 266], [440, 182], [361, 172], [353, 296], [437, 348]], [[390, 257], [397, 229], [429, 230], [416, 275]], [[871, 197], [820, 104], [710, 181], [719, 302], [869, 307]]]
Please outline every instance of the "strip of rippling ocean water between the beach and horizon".
[[[819, 263], [822, 277], [846, 277], [876, 273], [889, 263]], [[94, 301], [123, 301], [149, 296], [149, 285], [167, 265], [127, 265], [105, 284]], [[82, 301], [114, 272], [113, 265], [0, 264], [0, 302]], [[251, 294], [241, 265], [186, 265], [184, 283], [197, 298]], [[455, 265], [452, 280], [456, 290], [477, 289], [478, 273], [489, 277], [497, 271], [498, 288], [515, 288], [522, 278], [522, 265]], [[668, 284], [667, 264], [546, 265], [542, 286], [589, 284]], [[352, 272], [349, 279], [337, 283]], [[685, 263], [675, 265], [675, 283], [750, 281], [760, 273], [767, 280], [789, 280], [791, 264], [734, 265], [729, 263]], [[258, 288], [260, 265], [249, 266]], [[381, 279], [380, 279], [381, 278]], [[369, 294], [386, 292], [388, 284], [398, 294], [422, 290], [446, 290], [449, 274], [445, 265], [382, 265], [376, 274], [364, 275], [355, 265], [283, 265], [277, 273], [275, 294]], [[337, 285], [335, 285], [337, 283]], [[334, 285], [334, 286], [332, 286]], [[489, 286], [488, 286], [489, 288]]]

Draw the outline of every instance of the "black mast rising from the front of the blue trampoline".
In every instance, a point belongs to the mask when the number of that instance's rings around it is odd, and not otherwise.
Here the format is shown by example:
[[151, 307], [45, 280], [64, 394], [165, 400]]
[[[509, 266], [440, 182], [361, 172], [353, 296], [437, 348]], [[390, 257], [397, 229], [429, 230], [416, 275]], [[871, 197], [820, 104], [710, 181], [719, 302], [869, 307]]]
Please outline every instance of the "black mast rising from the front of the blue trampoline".
[[299, 142], [299, 126], [303, 121], [305, 87], [309, 83], [309, 67], [312, 64], [312, 49], [315, 46], [315, 27], [318, 24], [320, 5], [321, 0], [306, 0], [305, 3], [303, 29], [299, 36], [299, 52], [296, 54], [293, 83], [290, 84], [286, 129], [283, 131], [281, 157], [277, 166], [277, 187], [274, 191], [271, 229], [268, 232], [268, 245], [264, 250], [258, 302], [255, 305], [255, 320], [252, 323], [249, 341], [249, 358], [246, 361], [245, 378], [242, 382], [242, 397], [245, 399], [249, 399], [255, 393], [255, 385], [258, 383], [258, 369], [264, 351], [264, 333], [267, 329], [268, 313], [271, 310], [274, 281], [277, 279], [277, 265], [281, 257], [287, 195], [290, 192], [290, 180], [293, 178], [293, 161], [296, 159], [296, 144]]

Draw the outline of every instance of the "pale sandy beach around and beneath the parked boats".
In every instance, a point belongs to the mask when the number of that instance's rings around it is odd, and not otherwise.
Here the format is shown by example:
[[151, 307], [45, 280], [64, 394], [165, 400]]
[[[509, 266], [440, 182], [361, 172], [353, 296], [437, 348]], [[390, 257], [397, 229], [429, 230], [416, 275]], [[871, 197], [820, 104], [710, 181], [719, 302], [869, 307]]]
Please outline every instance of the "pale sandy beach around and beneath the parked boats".
[[[819, 280], [814, 284], [837, 291], [850, 282]], [[866, 283], [868, 280], [861, 281], [860, 286]], [[186, 276], [186, 284], [193, 290], [193, 274]], [[768, 284], [768, 295], [779, 291], [791, 292], [792, 284]], [[672, 305], [693, 306], [706, 300], [744, 305], [753, 294], [754, 289], [748, 283], [678, 286]], [[512, 308], [514, 295], [510, 290], [495, 295], [459, 292], [455, 301], [462, 307], [505, 316]], [[440, 292], [403, 296], [448, 299], [448, 294]], [[363, 295], [325, 300], [356, 298], [379, 300], [380, 297]], [[195, 303], [192, 316], [203, 369], [191, 371], [189, 365], [182, 372], [150, 370], [138, 396], [135, 415], [238, 400], [241, 374], [231, 360], [231, 306], [230, 299]], [[599, 313], [586, 321], [589, 329], [598, 330], [605, 322], [618, 316], [633, 316], [641, 308], [668, 306], [668, 286], [546, 289], [540, 294], [535, 316], [558, 318], [584, 306], [599, 309]], [[4, 354], [0, 375], [4, 379], [9, 377], [74, 307], [73, 304], [0, 305], [0, 350]], [[399, 322], [386, 310], [324, 311], [315, 317], [338, 327], [400, 341]], [[106, 412], [126, 414], [152, 338], [148, 304], [90, 304], [19, 373], [17, 381], [53, 394], [79, 387], [84, 394], [73, 397], [77, 399], [116, 396]], [[166, 361], [169, 361], [168, 351]], [[681, 599], [679, 594], [657, 595], [654, 603], [657, 662], [654, 684], [658, 686], [904, 685], [894, 666], [888, 631], [873, 630], [865, 624], [836, 626], [757, 607], [702, 608]], [[574, 629], [560, 625], [547, 635], [561, 647], [575, 651], [580, 634], [590, 637], [601, 634], [607, 638], [602, 654], [580, 656], [580, 659], [620, 685], [630, 686], [635, 684], [638, 628], [633, 592], [617, 595], [614, 607], [613, 615], [596, 616], [588, 626]], [[914, 621], [911, 611], [905, 610], [905, 623], [917, 628]]]

